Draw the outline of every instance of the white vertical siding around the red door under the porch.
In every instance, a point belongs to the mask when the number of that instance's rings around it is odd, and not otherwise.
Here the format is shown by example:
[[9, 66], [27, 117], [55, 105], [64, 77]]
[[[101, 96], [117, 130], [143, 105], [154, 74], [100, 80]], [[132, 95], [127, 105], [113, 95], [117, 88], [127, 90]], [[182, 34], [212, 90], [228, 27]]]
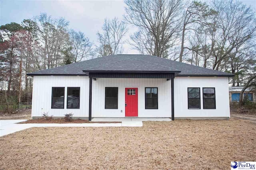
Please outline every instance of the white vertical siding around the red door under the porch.
[[[138, 88], [138, 117], [170, 117], [170, 86], [160, 78], [98, 78], [92, 81], [92, 117], [125, 117], [125, 88]], [[105, 87], [118, 87], [118, 109], [105, 109]], [[158, 88], [158, 109], [145, 109], [146, 87]]]

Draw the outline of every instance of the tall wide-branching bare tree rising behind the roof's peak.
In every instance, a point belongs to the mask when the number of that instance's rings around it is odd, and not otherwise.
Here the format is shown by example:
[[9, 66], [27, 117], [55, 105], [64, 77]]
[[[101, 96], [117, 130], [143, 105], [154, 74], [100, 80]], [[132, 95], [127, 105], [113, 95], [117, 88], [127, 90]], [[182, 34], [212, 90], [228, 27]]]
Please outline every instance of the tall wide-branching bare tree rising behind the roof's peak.
[[[182, 0], [125, 0], [126, 23], [136, 25], [139, 32], [133, 35], [132, 44], [140, 45], [148, 54], [164, 57], [168, 49], [178, 43], [180, 35]], [[143, 38], [143, 39], [142, 39]], [[150, 45], [154, 41], [154, 46]], [[135, 47], [136, 48], [136, 47]], [[154, 49], [152, 51], [152, 49]]]

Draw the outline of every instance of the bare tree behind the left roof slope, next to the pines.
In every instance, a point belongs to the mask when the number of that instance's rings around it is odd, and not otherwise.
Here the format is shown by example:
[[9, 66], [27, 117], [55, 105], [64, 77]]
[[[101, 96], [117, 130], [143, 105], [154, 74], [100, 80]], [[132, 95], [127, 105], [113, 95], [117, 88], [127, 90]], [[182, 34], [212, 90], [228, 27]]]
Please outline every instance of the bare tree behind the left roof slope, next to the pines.
[[92, 53], [92, 43], [88, 37], [85, 37], [84, 33], [74, 31], [71, 29], [69, 31], [70, 35], [70, 44], [71, 44], [71, 53], [74, 55], [74, 62], [79, 62], [84, 59], [87, 59], [88, 56]]

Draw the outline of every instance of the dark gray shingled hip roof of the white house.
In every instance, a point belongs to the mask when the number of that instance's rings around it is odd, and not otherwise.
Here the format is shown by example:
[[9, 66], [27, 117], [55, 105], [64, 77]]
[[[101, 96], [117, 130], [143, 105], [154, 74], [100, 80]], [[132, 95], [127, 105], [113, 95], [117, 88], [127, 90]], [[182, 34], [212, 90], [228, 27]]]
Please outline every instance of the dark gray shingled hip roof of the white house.
[[177, 76], [234, 76], [208, 68], [180, 63], [151, 55], [109, 55], [79, 63], [32, 72], [30, 76], [40, 75], [84, 75], [97, 71], [134, 71], [134, 72], [176, 72]]

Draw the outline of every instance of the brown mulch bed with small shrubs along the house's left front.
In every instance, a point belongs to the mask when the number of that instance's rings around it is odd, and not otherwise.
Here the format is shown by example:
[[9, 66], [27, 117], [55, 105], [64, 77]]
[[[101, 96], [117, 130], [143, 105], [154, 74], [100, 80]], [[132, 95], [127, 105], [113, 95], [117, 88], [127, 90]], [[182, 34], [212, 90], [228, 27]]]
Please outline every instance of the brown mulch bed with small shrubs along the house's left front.
[[88, 120], [82, 120], [82, 119], [72, 119], [71, 121], [66, 121], [65, 119], [46, 120], [42, 118], [42, 119], [27, 120], [17, 124], [24, 124], [24, 123], [122, 123], [122, 122], [120, 121], [88, 121]]

